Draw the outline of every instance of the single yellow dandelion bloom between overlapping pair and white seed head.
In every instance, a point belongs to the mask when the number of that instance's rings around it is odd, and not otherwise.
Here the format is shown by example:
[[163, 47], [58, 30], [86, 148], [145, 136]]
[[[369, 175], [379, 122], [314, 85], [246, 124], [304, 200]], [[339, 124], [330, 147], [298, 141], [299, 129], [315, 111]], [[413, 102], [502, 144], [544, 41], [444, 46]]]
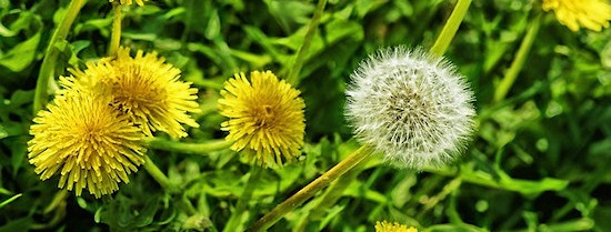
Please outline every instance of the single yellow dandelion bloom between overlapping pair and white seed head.
[[306, 104], [299, 93], [271, 71], [253, 71], [250, 81], [244, 73], [226, 81], [219, 109], [229, 118], [221, 130], [229, 131], [227, 140], [236, 141], [231, 149], [252, 151], [256, 163], [268, 167], [299, 155], [306, 129]]

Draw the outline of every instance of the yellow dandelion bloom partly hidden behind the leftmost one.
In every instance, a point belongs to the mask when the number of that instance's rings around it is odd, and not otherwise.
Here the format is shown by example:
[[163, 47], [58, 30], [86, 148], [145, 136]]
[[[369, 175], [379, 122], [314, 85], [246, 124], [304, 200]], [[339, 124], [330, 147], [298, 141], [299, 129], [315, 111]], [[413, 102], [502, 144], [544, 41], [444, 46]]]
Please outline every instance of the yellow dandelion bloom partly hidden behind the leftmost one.
[[188, 114], [200, 112], [198, 90], [180, 81], [180, 70], [164, 63], [157, 52], [144, 54], [139, 50], [132, 58], [129, 49], [120, 48], [117, 58], [90, 62], [84, 71], [70, 72], [73, 78], [62, 80], [64, 88], [76, 82], [103, 87], [96, 89], [109, 91], [111, 104], [130, 115], [148, 137], [158, 130], [174, 138], [187, 137], [181, 123], [199, 127]]

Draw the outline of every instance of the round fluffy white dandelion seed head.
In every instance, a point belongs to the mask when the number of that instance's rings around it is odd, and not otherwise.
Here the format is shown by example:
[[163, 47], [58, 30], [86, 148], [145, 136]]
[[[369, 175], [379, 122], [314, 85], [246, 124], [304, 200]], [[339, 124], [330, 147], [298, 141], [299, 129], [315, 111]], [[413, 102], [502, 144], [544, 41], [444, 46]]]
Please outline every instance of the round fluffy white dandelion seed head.
[[351, 75], [347, 117], [357, 138], [395, 164], [443, 164], [473, 131], [474, 97], [442, 58], [381, 50]]

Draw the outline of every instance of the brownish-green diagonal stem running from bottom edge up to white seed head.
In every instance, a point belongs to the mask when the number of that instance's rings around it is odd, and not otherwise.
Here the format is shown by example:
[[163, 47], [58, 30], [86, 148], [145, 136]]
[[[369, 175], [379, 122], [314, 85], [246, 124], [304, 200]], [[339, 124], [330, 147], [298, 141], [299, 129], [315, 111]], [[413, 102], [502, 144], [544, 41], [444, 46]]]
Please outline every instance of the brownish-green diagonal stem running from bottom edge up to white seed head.
[[335, 167], [331, 168], [329, 171], [317, 178], [314, 181], [310, 182], [303, 189], [299, 190], [296, 194], [291, 195], [289, 199], [282, 203], [276, 205], [273, 210], [268, 212], [259, 221], [254, 222], [247, 231], [250, 232], [260, 232], [266, 231], [276, 222], [278, 222], [284, 214], [301, 205], [306, 200], [313, 196], [317, 192], [322, 190], [322, 188], [329, 185], [332, 181], [337, 180], [339, 176], [343, 175], [350, 169], [354, 168], [368, 157], [371, 155], [372, 149], [365, 145], [357, 149], [345, 159], [343, 159]]

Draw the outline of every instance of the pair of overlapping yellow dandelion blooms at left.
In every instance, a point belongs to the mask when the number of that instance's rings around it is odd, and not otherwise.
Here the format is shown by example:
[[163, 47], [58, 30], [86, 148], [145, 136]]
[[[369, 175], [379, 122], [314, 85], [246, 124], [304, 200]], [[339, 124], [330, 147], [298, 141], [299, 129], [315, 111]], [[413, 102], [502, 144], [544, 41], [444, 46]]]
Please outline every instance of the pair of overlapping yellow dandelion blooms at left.
[[120, 49], [117, 57], [69, 70], [47, 110], [30, 128], [28, 158], [42, 180], [59, 173], [59, 188], [83, 189], [96, 198], [144, 163], [142, 139], [163, 131], [186, 137], [181, 123], [199, 127], [187, 113], [199, 112], [197, 89], [178, 80], [180, 70], [152, 52]]

